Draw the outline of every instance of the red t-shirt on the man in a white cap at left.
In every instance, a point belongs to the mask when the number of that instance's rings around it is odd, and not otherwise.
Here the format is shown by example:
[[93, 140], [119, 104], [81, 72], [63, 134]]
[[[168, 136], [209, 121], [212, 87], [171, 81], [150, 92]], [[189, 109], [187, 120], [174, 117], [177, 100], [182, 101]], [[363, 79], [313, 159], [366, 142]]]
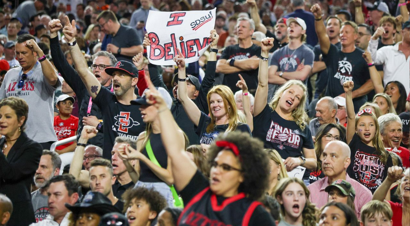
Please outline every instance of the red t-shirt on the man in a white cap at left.
[[[66, 139], [68, 137], [75, 136], [75, 132], [78, 129], [78, 118], [70, 115], [70, 118], [66, 120], [62, 120], [60, 116], [55, 116], [54, 117], [54, 131], [55, 134], [57, 135], [58, 140]], [[57, 150], [62, 150], [74, 142], [70, 142], [67, 144], [63, 144], [60, 146], [57, 146], [55, 149]]]

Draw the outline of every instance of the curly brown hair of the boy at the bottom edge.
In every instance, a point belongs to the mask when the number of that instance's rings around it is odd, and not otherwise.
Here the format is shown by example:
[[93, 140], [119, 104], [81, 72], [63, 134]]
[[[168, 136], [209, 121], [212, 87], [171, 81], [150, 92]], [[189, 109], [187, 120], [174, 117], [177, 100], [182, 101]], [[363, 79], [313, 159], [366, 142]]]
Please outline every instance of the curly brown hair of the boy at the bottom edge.
[[145, 187], [130, 188], [124, 192], [122, 198], [124, 201], [123, 212], [127, 212], [132, 199], [146, 201], [150, 206], [150, 210], [157, 212], [157, 215], [167, 206], [164, 196], [154, 189], [147, 189]]

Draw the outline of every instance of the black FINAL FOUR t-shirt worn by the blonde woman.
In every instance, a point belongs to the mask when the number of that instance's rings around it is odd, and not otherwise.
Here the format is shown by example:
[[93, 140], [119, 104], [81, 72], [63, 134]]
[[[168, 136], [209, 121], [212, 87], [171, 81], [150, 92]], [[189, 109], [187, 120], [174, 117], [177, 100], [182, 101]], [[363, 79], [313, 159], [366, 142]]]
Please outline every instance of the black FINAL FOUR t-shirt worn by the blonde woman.
[[[298, 158], [303, 156], [303, 148], [314, 148], [312, 133], [307, 124], [301, 130], [296, 122], [283, 119], [269, 105], [253, 117], [253, 137], [260, 139], [265, 148], [278, 151], [283, 159]], [[308, 179], [309, 173], [306, 169], [303, 179]]]

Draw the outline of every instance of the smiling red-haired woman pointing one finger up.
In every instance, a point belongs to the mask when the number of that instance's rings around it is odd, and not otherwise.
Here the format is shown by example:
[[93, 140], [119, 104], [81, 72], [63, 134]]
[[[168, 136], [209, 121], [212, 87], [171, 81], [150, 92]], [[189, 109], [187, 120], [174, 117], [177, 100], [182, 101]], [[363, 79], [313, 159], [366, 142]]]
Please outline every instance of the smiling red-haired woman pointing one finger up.
[[185, 75], [185, 58], [180, 50], [174, 61], [178, 66], [178, 99], [184, 106], [189, 119], [196, 126], [200, 144], [212, 144], [221, 132], [242, 131], [251, 134], [249, 126], [239, 121], [238, 109], [232, 90], [225, 85], [217, 85], [208, 91], [209, 114], [201, 112], [194, 101], [188, 98], [188, 84]]

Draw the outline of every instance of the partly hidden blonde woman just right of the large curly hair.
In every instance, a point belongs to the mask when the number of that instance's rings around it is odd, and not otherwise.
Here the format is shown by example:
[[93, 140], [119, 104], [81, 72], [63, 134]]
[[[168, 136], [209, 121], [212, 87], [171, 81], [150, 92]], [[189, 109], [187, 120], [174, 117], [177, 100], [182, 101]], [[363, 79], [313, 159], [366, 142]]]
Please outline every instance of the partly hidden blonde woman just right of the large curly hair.
[[285, 165], [279, 153], [274, 149], [265, 149], [269, 156], [270, 176], [268, 194], [272, 195], [280, 179], [287, 178]]

